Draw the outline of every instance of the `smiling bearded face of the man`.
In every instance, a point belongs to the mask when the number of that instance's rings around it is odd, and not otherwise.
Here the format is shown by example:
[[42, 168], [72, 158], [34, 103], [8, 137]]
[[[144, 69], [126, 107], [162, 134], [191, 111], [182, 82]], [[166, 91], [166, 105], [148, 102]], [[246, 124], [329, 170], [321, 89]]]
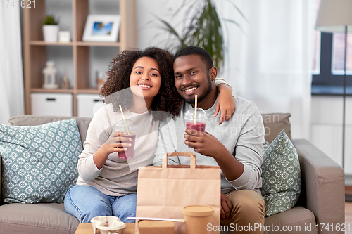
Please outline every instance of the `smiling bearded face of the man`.
[[[199, 55], [180, 56], [174, 62], [175, 86], [187, 103], [201, 102], [210, 93], [211, 79], [206, 64]], [[215, 78], [215, 77], [214, 77]]]

